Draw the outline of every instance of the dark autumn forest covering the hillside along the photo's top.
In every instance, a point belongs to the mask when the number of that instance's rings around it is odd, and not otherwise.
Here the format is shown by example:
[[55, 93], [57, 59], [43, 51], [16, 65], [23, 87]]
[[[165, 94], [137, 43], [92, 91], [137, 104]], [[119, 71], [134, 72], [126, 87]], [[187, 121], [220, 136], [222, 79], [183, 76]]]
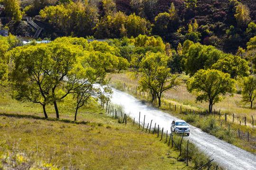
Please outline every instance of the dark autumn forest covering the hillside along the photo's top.
[[[256, 36], [256, 4], [250, 0], [0, 0], [0, 17], [24, 29], [21, 16], [47, 27], [41, 38], [59, 35], [95, 39], [159, 35], [171, 48], [185, 40], [236, 53]], [[49, 28], [54, 28], [49, 30]], [[17, 34], [17, 29], [10, 29]], [[19, 34], [22, 34], [19, 32]], [[25, 34], [25, 33], [23, 33]]]

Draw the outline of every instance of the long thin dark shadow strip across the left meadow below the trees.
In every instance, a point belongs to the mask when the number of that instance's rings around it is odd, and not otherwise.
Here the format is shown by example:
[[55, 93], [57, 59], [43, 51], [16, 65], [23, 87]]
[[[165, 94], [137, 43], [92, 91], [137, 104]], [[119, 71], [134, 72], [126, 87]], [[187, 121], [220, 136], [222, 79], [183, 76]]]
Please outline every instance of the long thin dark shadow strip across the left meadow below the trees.
[[39, 119], [39, 120], [47, 120], [47, 121], [58, 121], [63, 123], [73, 123], [73, 124], [83, 124], [83, 125], [90, 125], [90, 126], [102, 126], [101, 123], [95, 123], [90, 121], [74, 121], [68, 119], [57, 119], [57, 118], [43, 118], [40, 116], [35, 115], [27, 115], [27, 114], [18, 114], [18, 113], [11, 113], [11, 112], [3, 112], [0, 111], [0, 116], [12, 117], [12, 118], [28, 118], [28, 119]]

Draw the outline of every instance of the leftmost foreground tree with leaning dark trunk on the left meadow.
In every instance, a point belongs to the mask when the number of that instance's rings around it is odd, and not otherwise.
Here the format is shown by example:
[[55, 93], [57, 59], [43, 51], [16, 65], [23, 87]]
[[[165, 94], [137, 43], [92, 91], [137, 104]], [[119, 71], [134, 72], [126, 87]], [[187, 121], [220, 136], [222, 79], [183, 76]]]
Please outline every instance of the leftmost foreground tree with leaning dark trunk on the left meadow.
[[40, 103], [47, 118], [45, 107], [49, 103], [50, 83], [45, 70], [50, 70], [52, 59], [46, 45], [17, 47], [10, 53], [15, 64], [11, 75], [12, 97]]

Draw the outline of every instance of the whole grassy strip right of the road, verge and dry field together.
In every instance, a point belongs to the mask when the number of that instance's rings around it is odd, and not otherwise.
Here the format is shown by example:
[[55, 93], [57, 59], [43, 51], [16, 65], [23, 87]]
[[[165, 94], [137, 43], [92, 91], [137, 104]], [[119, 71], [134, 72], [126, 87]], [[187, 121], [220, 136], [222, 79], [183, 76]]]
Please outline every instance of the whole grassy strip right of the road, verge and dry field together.
[[[110, 79], [111, 84], [120, 90], [127, 92], [127, 86], [129, 87], [131, 93], [131, 88], [136, 88], [138, 82], [136, 80], [131, 80], [127, 72], [120, 74], [111, 73], [107, 77]], [[183, 79], [182, 84], [176, 90], [169, 90], [163, 94], [161, 99], [161, 108], [165, 112], [169, 112], [171, 115], [178, 117], [180, 119], [185, 119], [194, 126], [200, 127], [204, 131], [211, 135], [217, 136], [218, 138], [227, 141], [228, 143], [234, 144], [244, 150], [256, 154], [256, 110], [250, 109], [248, 105], [241, 102], [241, 95], [235, 94], [234, 97], [226, 97], [223, 101], [215, 104], [213, 110], [216, 110], [216, 115], [208, 115], [206, 110], [208, 109], [208, 103], [195, 102], [195, 96], [187, 92], [185, 80], [189, 77], [186, 75], [181, 75]], [[123, 85], [126, 88], [123, 89]], [[157, 106], [157, 104], [149, 102], [147, 99], [147, 93], [145, 97], [131, 93], [139, 100], [145, 103]], [[164, 103], [166, 105], [164, 106]], [[171, 103], [171, 109], [170, 104]], [[175, 111], [176, 105], [176, 111]], [[182, 114], [180, 114], [180, 106], [182, 107]], [[187, 111], [186, 111], [187, 110]], [[192, 111], [191, 111], [192, 110]], [[190, 111], [195, 110], [195, 115], [190, 114]], [[220, 119], [219, 119], [220, 110]], [[200, 113], [200, 119], [199, 119]], [[225, 114], [227, 114], [227, 121], [225, 120]], [[234, 122], [233, 122], [234, 114]], [[252, 124], [252, 116], [254, 118], [254, 127]], [[245, 126], [245, 117], [247, 117], [247, 122]], [[207, 121], [212, 119], [214, 123]], [[241, 124], [240, 124], [241, 122]], [[206, 125], [206, 126], [204, 126]], [[230, 129], [228, 129], [230, 127]], [[240, 137], [238, 136], [238, 128], [240, 130]], [[249, 132], [249, 142], [247, 141], [247, 133]]]

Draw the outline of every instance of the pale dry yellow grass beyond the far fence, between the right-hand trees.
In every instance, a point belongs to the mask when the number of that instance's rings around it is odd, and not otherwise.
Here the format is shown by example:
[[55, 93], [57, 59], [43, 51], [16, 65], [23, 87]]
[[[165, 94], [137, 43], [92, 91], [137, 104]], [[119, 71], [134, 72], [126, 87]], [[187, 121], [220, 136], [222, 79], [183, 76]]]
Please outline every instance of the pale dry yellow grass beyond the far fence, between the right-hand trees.
[[[127, 72], [120, 74], [112, 73], [107, 77], [111, 77], [110, 80], [115, 83], [122, 82], [122, 84], [125, 83], [126, 86], [128, 85], [133, 88], [138, 86], [138, 81], [131, 80]], [[184, 75], [182, 75], [182, 78], [184, 78]], [[186, 76], [185, 78], [188, 77]], [[183, 81], [180, 87], [178, 87], [176, 90], [171, 89], [164, 92], [162, 100], [167, 103], [176, 104], [179, 107], [182, 106], [191, 110], [207, 110], [209, 107], [207, 102], [195, 102], [196, 98], [193, 94], [187, 91], [185, 81]], [[248, 119], [251, 119], [252, 116], [256, 119], [256, 110], [250, 109], [249, 105], [244, 104], [241, 102], [241, 100], [241, 94], [234, 94], [234, 97], [227, 96], [221, 102], [216, 103], [213, 106], [213, 110], [220, 110], [221, 114], [234, 113], [235, 117], [238, 119], [237, 121], [239, 121], [239, 119], [243, 119], [245, 116]]]

